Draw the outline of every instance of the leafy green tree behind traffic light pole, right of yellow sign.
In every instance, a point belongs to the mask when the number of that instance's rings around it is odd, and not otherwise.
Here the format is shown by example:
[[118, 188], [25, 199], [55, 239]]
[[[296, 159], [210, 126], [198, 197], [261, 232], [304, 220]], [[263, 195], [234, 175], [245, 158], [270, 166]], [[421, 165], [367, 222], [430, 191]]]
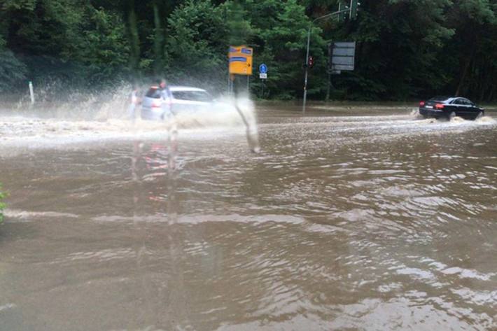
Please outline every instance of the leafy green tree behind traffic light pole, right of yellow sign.
[[[245, 6], [255, 31], [255, 63], [265, 62], [269, 66], [267, 85], [273, 96], [281, 99], [301, 97], [302, 64], [305, 62], [310, 24], [304, 6], [295, 0], [248, 0]], [[320, 32], [318, 27], [311, 29], [311, 55], [317, 62], [311, 72], [310, 96], [325, 90], [325, 78], [319, 74], [325, 71], [326, 65], [325, 42]]]

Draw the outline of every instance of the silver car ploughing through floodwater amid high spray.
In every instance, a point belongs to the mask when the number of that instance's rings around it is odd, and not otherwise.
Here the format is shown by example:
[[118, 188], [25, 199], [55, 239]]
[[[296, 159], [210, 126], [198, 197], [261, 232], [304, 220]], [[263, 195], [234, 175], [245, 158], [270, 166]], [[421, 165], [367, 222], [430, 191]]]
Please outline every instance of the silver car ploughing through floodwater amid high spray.
[[151, 87], [141, 101], [141, 118], [164, 120], [169, 115], [194, 113], [212, 108], [214, 99], [197, 87], [170, 86], [165, 90]]

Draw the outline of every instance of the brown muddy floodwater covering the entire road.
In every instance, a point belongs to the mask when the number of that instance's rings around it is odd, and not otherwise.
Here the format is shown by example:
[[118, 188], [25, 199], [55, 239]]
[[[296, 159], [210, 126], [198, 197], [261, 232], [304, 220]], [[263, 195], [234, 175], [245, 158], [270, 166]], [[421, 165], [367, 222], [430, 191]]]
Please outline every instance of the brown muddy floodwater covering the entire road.
[[257, 116], [0, 115], [0, 330], [497, 330], [497, 113]]

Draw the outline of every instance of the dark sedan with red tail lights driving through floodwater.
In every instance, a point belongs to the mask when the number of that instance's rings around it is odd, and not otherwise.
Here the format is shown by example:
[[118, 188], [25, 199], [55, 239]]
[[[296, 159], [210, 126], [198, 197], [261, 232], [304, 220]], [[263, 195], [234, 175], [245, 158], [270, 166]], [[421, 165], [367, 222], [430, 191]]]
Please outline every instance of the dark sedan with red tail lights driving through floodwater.
[[475, 120], [485, 114], [470, 100], [461, 97], [434, 97], [419, 103], [419, 113], [423, 118], [454, 118], [459, 116], [466, 120]]

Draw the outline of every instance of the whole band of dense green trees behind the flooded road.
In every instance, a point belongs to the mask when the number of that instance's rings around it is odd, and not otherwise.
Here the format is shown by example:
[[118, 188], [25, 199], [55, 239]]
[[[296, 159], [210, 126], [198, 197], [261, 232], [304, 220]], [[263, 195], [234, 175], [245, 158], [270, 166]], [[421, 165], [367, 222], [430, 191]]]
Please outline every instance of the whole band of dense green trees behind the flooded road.
[[[327, 90], [327, 43], [356, 41], [356, 70], [332, 77], [334, 97], [497, 99], [495, 0], [360, 2], [356, 20], [335, 17], [311, 26], [310, 98], [323, 99]], [[247, 44], [255, 68], [269, 67], [266, 97], [300, 98], [307, 31], [338, 3], [3, 0], [0, 91], [42, 78], [98, 87], [131, 73], [224, 87], [228, 45]], [[260, 81], [251, 86], [260, 90]]]

